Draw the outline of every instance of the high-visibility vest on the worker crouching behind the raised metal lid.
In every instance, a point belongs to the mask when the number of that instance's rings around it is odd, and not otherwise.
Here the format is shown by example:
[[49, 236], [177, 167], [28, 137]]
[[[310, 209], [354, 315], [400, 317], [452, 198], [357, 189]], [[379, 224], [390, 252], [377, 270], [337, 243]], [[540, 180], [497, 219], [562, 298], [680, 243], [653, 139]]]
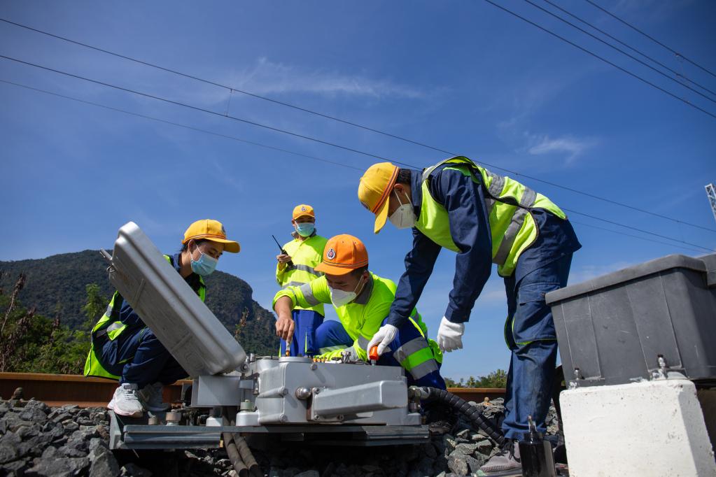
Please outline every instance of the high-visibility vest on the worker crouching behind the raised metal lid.
[[[173, 265], [172, 258], [169, 255], [164, 255], [164, 258]], [[203, 277], [199, 276], [199, 287], [198, 290], [194, 290], [197, 295], [201, 298], [201, 301], [206, 299], [206, 284]], [[120, 310], [124, 298], [120, 295], [120, 292], [116, 292], [112, 295], [110, 304], [107, 305], [107, 311], [105, 315], [97, 321], [95, 328], [92, 328], [92, 335], [89, 354], [87, 354], [87, 360], [84, 362], [84, 375], [85, 376], [97, 376], [99, 378], [108, 378], [119, 380], [120, 376], [113, 375], [105, 369], [102, 365], [102, 346], [101, 343], [105, 343], [105, 340], [116, 340], [127, 330], [127, 325], [120, 321]], [[97, 348], [95, 348], [97, 343]], [[125, 363], [127, 360], [123, 361]]]

